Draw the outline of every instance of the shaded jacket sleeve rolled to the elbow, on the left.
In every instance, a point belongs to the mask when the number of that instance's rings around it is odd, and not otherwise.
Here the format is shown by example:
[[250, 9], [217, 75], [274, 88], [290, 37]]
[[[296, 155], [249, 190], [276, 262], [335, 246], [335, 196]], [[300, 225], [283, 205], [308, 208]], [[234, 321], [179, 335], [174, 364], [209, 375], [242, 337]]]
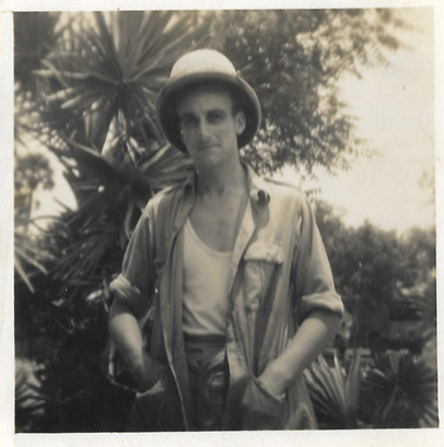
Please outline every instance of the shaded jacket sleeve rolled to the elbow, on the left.
[[121, 273], [109, 289], [137, 318], [150, 308], [155, 286], [154, 240], [150, 204], [144, 209], [124, 256]]

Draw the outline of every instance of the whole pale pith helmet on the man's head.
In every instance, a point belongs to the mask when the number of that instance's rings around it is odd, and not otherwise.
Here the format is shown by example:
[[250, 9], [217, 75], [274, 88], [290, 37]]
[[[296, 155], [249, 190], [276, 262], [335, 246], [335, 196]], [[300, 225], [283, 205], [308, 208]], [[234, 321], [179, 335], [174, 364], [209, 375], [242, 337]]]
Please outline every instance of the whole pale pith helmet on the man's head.
[[225, 84], [238, 101], [245, 114], [245, 130], [237, 137], [237, 146], [249, 143], [260, 123], [260, 105], [254, 90], [236, 73], [230, 60], [213, 49], [198, 49], [183, 56], [174, 64], [168, 82], [162, 89], [156, 105], [159, 122], [171, 143], [186, 152], [180, 139], [177, 94], [184, 89], [205, 85], [206, 82]]

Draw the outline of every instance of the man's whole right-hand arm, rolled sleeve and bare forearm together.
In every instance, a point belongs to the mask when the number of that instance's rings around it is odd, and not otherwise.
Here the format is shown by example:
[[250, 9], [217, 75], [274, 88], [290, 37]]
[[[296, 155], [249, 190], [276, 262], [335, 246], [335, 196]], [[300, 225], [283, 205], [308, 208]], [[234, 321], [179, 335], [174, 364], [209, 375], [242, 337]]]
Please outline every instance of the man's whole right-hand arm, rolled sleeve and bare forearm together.
[[330, 264], [305, 199], [296, 223], [297, 240], [292, 266], [297, 317], [302, 321], [287, 349], [266, 367], [259, 379], [280, 396], [309, 366], [339, 329], [342, 302], [335, 292]]

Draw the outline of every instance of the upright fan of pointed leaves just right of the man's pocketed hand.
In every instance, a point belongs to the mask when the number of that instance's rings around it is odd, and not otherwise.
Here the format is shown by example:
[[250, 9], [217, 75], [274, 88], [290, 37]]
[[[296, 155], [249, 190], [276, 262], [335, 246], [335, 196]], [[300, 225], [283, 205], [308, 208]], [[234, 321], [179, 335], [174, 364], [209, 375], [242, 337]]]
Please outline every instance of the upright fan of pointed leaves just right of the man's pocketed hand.
[[335, 368], [330, 368], [319, 355], [304, 376], [322, 427], [358, 428], [357, 410], [362, 379], [360, 350], [353, 352], [347, 376], [336, 355]]

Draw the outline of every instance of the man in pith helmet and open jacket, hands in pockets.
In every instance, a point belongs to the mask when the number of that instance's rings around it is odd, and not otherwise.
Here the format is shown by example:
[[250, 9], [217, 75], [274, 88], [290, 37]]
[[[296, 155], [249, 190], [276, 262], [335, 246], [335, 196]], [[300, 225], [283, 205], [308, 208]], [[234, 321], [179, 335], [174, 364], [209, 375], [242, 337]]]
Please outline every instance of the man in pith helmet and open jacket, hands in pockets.
[[197, 50], [174, 66], [157, 116], [196, 173], [149, 202], [112, 284], [112, 337], [148, 390], [131, 430], [315, 428], [302, 372], [342, 303], [306, 198], [239, 161], [260, 122], [255, 92]]

